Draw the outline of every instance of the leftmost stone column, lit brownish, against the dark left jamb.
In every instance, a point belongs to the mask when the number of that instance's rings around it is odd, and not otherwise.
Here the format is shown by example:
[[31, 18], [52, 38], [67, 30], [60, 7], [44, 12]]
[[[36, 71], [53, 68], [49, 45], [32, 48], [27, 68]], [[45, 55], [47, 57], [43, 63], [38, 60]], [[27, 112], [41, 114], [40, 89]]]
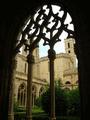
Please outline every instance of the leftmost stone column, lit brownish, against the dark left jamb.
[[11, 61], [10, 68], [10, 87], [9, 87], [9, 104], [8, 104], [8, 120], [14, 120], [13, 103], [14, 103], [14, 81], [16, 75], [16, 59]]

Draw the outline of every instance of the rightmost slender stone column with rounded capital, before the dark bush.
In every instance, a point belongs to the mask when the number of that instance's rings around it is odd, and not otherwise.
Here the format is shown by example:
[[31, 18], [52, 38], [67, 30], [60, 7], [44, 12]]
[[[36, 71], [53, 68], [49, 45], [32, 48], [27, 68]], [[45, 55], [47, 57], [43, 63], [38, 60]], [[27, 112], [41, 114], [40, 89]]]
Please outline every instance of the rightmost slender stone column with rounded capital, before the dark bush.
[[55, 82], [54, 82], [54, 60], [56, 58], [56, 53], [53, 49], [48, 51], [48, 58], [50, 64], [50, 101], [51, 101], [51, 111], [50, 120], [56, 120], [55, 117]]

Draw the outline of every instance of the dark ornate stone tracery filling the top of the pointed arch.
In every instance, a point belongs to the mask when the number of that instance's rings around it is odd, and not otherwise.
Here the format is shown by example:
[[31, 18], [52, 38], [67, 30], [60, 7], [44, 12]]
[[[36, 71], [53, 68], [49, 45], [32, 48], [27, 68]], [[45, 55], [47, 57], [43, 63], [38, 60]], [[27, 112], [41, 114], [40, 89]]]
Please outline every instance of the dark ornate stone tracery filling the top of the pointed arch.
[[44, 40], [44, 46], [53, 48], [55, 43], [61, 41], [63, 33], [67, 33], [65, 39], [74, 37], [74, 25], [69, 13], [63, 6], [43, 5], [25, 21], [17, 48], [22, 44], [31, 44], [30, 49], [34, 49], [40, 40]]

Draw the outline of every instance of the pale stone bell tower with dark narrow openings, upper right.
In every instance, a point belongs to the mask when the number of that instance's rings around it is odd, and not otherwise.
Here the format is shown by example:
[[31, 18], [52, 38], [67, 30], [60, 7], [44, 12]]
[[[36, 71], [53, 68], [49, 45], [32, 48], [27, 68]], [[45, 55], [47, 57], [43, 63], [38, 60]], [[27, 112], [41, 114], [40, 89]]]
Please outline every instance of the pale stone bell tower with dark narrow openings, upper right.
[[67, 38], [64, 41], [65, 41], [65, 52], [68, 53], [72, 57], [74, 67], [76, 67], [76, 55], [74, 52], [75, 39], [74, 38]]

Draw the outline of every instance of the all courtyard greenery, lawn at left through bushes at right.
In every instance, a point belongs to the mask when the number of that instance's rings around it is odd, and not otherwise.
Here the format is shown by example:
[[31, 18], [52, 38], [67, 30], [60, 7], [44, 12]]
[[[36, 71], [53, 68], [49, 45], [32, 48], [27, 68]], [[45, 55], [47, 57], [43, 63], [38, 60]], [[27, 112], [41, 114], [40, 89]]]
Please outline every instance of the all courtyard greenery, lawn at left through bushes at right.
[[[61, 82], [55, 83], [56, 118], [57, 120], [80, 120], [79, 89], [70, 91], [61, 88]], [[26, 108], [19, 107], [14, 102], [15, 120], [25, 120]], [[50, 114], [50, 88], [37, 98], [32, 109], [33, 120], [49, 120]]]

